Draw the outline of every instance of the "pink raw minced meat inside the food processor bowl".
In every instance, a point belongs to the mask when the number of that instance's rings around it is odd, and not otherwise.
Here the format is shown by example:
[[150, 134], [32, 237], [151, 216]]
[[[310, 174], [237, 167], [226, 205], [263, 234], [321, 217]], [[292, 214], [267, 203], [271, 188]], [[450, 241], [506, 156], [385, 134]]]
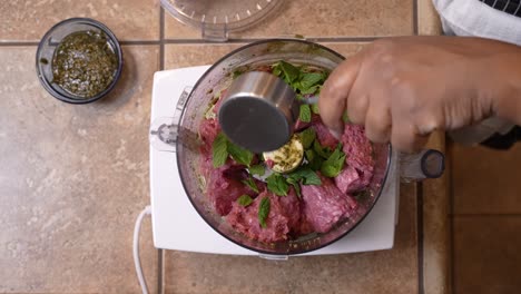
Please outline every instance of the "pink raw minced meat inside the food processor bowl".
[[[271, 67], [262, 70], [269, 71]], [[223, 97], [226, 90], [220, 92]], [[223, 99], [218, 99], [212, 111], [217, 115]], [[352, 193], [367, 188], [374, 173], [373, 146], [367, 140], [363, 127], [345, 125], [344, 134], [338, 140], [322, 122], [318, 115], [313, 114], [309, 122], [297, 119], [295, 133], [313, 128], [316, 140], [323, 147], [335, 149], [342, 144], [345, 153], [345, 164], [338, 176], [327, 178], [317, 173], [321, 185], [299, 185], [301, 197], [289, 185], [286, 196], [277, 196], [267, 189], [266, 183], [253, 179], [247, 167], [239, 165], [230, 157], [218, 168], [213, 165], [213, 143], [220, 134], [217, 116], [205, 118], [199, 125], [200, 174], [205, 178], [205, 193], [216, 213], [237, 232], [249, 238], [273, 243], [284, 242], [313, 232], [326, 233], [338, 222], [355, 217], [358, 204]], [[250, 165], [259, 163], [255, 155]], [[264, 163], [269, 168], [273, 163]], [[254, 182], [256, 190], [245, 184]], [[250, 185], [250, 184], [249, 184]], [[248, 195], [253, 202], [242, 206], [237, 199]], [[265, 218], [266, 226], [259, 224], [259, 205], [263, 198], [269, 199], [269, 213]]]

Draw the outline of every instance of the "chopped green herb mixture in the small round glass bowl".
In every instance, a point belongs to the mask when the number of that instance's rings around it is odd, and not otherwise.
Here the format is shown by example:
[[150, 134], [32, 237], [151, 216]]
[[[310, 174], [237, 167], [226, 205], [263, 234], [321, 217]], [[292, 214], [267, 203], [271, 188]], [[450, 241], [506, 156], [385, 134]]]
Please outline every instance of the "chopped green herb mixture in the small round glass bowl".
[[104, 32], [73, 32], [62, 39], [52, 58], [53, 82], [63, 90], [90, 98], [105, 90], [118, 68], [116, 52]]

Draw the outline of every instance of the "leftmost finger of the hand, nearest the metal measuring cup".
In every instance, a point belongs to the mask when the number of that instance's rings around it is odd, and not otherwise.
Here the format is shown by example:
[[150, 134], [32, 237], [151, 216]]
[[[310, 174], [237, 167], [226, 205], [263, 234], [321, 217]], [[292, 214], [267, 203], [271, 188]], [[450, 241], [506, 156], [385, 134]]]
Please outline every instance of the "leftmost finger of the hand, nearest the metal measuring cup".
[[342, 116], [347, 106], [351, 88], [360, 70], [361, 53], [343, 61], [327, 78], [318, 98], [318, 108], [324, 125], [333, 133], [342, 134]]

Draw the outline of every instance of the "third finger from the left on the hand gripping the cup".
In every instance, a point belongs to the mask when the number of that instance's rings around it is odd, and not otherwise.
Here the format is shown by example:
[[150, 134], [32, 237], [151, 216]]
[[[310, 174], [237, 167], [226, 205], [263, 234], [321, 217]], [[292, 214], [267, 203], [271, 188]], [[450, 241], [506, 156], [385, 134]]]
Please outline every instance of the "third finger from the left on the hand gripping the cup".
[[387, 104], [372, 96], [365, 116], [365, 136], [374, 143], [389, 143], [391, 126], [391, 109]]

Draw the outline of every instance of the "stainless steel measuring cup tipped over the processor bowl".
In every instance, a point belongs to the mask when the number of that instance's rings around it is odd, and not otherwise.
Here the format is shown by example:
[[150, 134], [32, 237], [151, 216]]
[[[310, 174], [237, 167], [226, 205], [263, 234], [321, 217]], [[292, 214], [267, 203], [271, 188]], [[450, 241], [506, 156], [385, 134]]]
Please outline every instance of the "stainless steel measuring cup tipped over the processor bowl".
[[284, 80], [269, 72], [245, 72], [224, 97], [218, 112], [220, 127], [233, 143], [246, 149], [275, 150], [292, 137], [299, 104], [306, 102], [295, 97]]

